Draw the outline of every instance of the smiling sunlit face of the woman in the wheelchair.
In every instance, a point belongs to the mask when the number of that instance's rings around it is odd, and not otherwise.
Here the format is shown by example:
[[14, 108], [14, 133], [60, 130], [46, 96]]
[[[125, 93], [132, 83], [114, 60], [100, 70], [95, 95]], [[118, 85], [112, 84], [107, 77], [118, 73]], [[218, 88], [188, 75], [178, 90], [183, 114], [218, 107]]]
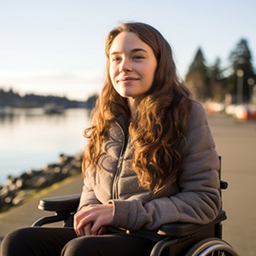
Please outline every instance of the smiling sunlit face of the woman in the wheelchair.
[[109, 75], [120, 96], [136, 100], [152, 86], [157, 60], [134, 32], [121, 32], [109, 49]]

